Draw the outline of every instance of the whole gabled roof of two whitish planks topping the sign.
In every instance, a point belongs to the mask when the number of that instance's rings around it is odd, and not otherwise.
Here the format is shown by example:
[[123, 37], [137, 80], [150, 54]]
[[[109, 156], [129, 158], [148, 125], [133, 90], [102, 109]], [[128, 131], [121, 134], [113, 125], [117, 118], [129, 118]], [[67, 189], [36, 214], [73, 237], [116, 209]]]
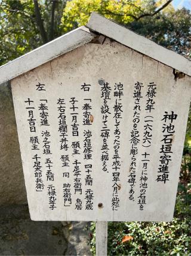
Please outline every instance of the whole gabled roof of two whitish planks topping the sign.
[[[96, 34], [93, 32], [96, 31]], [[51, 61], [57, 56], [76, 49], [86, 43], [89, 43], [98, 34], [112, 38], [124, 46], [130, 47], [156, 61], [162, 62], [178, 71], [181, 71], [188, 76], [191, 76], [191, 61], [178, 55], [171, 50], [168, 50], [153, 41], [142, 37], [118, 25], [111, 20], [108, 20], [97, 13], [92, 13], [90, 21], [85, 26], [81, 26], [67, 34], [58, 37], [56, 40], [50, 41], [41, 47], [20, 56], [14, 61], [10, 61], [0, 67], [0, 85], [14, 77], [20, 76], [33, 68], [38, 67], [48, 61]]]

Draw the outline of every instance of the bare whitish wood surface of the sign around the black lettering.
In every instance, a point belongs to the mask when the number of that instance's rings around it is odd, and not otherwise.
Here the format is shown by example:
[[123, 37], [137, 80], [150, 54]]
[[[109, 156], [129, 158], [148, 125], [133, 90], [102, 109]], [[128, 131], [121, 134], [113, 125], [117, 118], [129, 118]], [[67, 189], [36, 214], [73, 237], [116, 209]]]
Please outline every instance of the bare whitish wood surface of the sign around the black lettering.
[[[107, 127], [110, 134], [107, 139], [109, 145], [109, 160], [107, 161], [107, 170], [103, 170], [102, 153], [103, 138], [101, 130], [103, 129], [103, 97], [101, 83], [109, 83], [111, 93], [109, 106], [109, 118], [107, 119]], [[123, 96], [121, 98], [122, 114], [119, 125], [120, 131], [120, 182], [119, 182], [119, 207], [113, 210], [113, 166], [115, 162], [115, 105], [116, 98], [114, 90], [116, 83], [124, 85]], [[134, 89], [137, 82], [143, 83], [141, 89], [140, 100], [140, 121], [137, 122], [137, 131], [139, 131], [140, 144], [136, 154], [135, 168], [135, 186], [134, 201], [130, 200], [130, 167], [132, 162], [131, 140], [134, 127], [135, 98]], [[156, 84], [155, 107], [152, 112], [146, 109], [148, 85]], [[37, 91], [36, 85], [39, 83], [45, 85], [46, 91]], [[91, 85], [90, 91], [83, 91], [82, 85], [86, 83]], [[30, 217], [35, 221], [171, 221], [174, 213], [175, 197], [177, 194], [178, 177], [181, 165], [181, 155], [183, 152], [183, 144], [186, 132], [187, 116], [190, 105], [190, 77], [184, 76], [182, 79], [175, 81], [173, 69], [167, 65], [161, 64], [152, 58], [143, 56], [138, 52], [125, 47], [116, 41], [106, 38], [103, 44], [87, 43], [84, 46], [61, 55], [51, 62], [47, 62], [33, 71], [29, 71], [23, 76], [17, 77], [11, 81], [13, 92], [14, 110], [16, 113], [17, 129], [20, 141], [21, 159], [23, 164], [24, 179], [27, 189], [27, 199], [29, 203]], [[78, 107], [78, 139], [72, 134], [72, 115], [71, 99], [75, 97], [76, 106]], [[28, 105], [25, 101], [30, 98], [33, 101], [34, 117], [36, 119], [35, 136], [39, 138], [38, 154], [42, 163], [42, 178], [45, 184], [44, 191], [37, 192], [36, 177], [34, 166], [34, 155], [36, 152], [32, 150], [30, 137], [33, 136], [29, 129], [29, 113]], [[67, 140], [69, 141], [69, 150], [67, 153], [60, 149], [60, 132], [58, 125], [58, 99], [64, 99], [66, 103], [66, 124]], [[184, 100], [181, 100], [181, 99]], [[90, 99], [90, 100], [85, 100]], [[47, 100], [48, 121], [50, 126], [44, 128], [41, 125], [41, 116], [39, 106], [41, 100]], [[84, 123], [84, 104], [86, 101], [91, 103], [91, 125], [88, 128]], [[42, 101], [42, 103], [45, 101]], [[159, 171], [159, 160], [161, 159], [161, 147], [163, 137], [164, 113], [174, 112], [177, 119], [173, 121], [174, 135], [172, 143], [171, 163], [169, 166], [169, 180], [157, 182]], [[145, 134], [145, 120], [147, 116], [152, 114], [152, 140], [150, 147], [143, 147], [143, 138]], [[148, 119], [149, 120], [149, 119]], [[150, 121], [151, 122], [151, 121]], [[53, 171], [55, 174], [54, 183], [47, 180], [47, 168], [44, 155], [44, 138], [42, 131], [48, 129], [50, 131], [50, 145], [53, 159]], [[84, 129], [91, 131], [91, 158], [85, 159], [84, 155]], [[72, 142], [79, 141], [81, 151], [79, 155], [72, 155]], [[85, 150], [86, 151], [86, 150]], [[146, 204], [144, 209], [140, 210], [140, 178], [143, 170], [143, 155], [149, 153], [149, 164], [147, 165], [147, 191]], [[63, 167], [61, 155], [69, 155], [69, 166]], [[81, 180], [82, 194], [74, 191], [73, 175], [75, 159], [81, 163]], [[85, 185], [86, 172], [84, 166], [92, 164], [93, 185]], [[69, 173], [66, 177], [63, 173]], [[57, 191], [57, 208], [51, 210], [49, 208], [49, 199], [47, 186], [55, 185]], [[64, 206], [63, 184], [71, 184], [71, 205]], [[94, 193], [93, 210], [86, 209], [86, 190], [91, 188]], [[77, 210], [76, 201], [80, 198], [82, 201], [82, 209]], [[79, 200], [78, 200], [79, 201]]]

